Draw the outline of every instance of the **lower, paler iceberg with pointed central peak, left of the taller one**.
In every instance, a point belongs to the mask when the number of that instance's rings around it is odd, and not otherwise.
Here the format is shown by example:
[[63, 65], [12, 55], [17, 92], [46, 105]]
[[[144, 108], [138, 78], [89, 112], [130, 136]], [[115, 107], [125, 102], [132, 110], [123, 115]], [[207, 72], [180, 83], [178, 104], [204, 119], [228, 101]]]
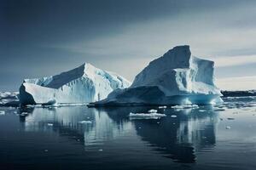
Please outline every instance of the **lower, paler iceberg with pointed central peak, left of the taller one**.
[[130, 85], [124, 77], [85, 63], [59, 75], [25, 79], [20, 86], [19, 99], [23, 105], [89, 103], [105, 99], [114, 89]]

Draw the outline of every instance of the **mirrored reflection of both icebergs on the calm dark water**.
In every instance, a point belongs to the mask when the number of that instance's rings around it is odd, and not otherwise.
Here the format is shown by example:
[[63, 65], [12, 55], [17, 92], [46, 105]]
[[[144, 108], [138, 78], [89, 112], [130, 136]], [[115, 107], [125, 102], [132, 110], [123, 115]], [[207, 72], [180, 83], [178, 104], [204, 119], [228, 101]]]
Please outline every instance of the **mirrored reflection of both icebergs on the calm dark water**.
[[197, 151], [210, 150], [214, 146], [218, 114], [212, 108], [205, 108], [204, 112], [198, 109], [160, 110], [167, 116], [159, 120], [131, 121], [128, 117], [130, 112], [146, 112], [149, 109], [155, 108], [21, 108], [20, 113], [26, 111], [28, 114], [20, 116], [20, 122], [25, 122], [26, 132], [59, 133], [84, 144], [86, 150], [134, 131], [151, 150], [178, 162], [195, 162]]

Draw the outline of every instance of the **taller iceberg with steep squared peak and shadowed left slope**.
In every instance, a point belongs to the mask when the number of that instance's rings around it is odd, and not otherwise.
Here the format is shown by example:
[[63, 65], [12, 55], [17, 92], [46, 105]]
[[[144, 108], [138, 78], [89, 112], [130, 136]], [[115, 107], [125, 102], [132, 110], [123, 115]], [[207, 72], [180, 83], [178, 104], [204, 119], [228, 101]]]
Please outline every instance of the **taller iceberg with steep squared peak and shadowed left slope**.
[[214, 62], [191, 55], [188, 45], [177, 46], [141, 71], [131, 87], [116, 89], [104, 105], [180, 105], [222, 102], [213, 82]]

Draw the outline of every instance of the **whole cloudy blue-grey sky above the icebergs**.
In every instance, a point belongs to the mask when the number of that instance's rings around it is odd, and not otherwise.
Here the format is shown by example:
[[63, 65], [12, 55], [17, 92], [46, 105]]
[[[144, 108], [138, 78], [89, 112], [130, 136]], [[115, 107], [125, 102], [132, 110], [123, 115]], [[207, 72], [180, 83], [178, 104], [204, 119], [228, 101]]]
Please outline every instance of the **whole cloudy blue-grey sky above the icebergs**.
[[84, 62], [132, 81], [183, 44], [220, 88], [256, 88], [255, 19], [253, 0], [0, 0], [0, 91]]

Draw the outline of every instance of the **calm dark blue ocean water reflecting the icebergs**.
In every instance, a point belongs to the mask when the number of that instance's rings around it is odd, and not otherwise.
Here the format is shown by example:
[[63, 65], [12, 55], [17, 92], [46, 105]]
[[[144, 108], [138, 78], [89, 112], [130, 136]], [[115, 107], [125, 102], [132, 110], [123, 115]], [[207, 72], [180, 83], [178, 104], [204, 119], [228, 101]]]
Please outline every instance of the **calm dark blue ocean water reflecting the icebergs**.
[[[195, 109], [0, 108], [0, 169], [256, 169], [256, 99], [224, 100]], [[166, 117], [128, 116], [149, 109]]]

